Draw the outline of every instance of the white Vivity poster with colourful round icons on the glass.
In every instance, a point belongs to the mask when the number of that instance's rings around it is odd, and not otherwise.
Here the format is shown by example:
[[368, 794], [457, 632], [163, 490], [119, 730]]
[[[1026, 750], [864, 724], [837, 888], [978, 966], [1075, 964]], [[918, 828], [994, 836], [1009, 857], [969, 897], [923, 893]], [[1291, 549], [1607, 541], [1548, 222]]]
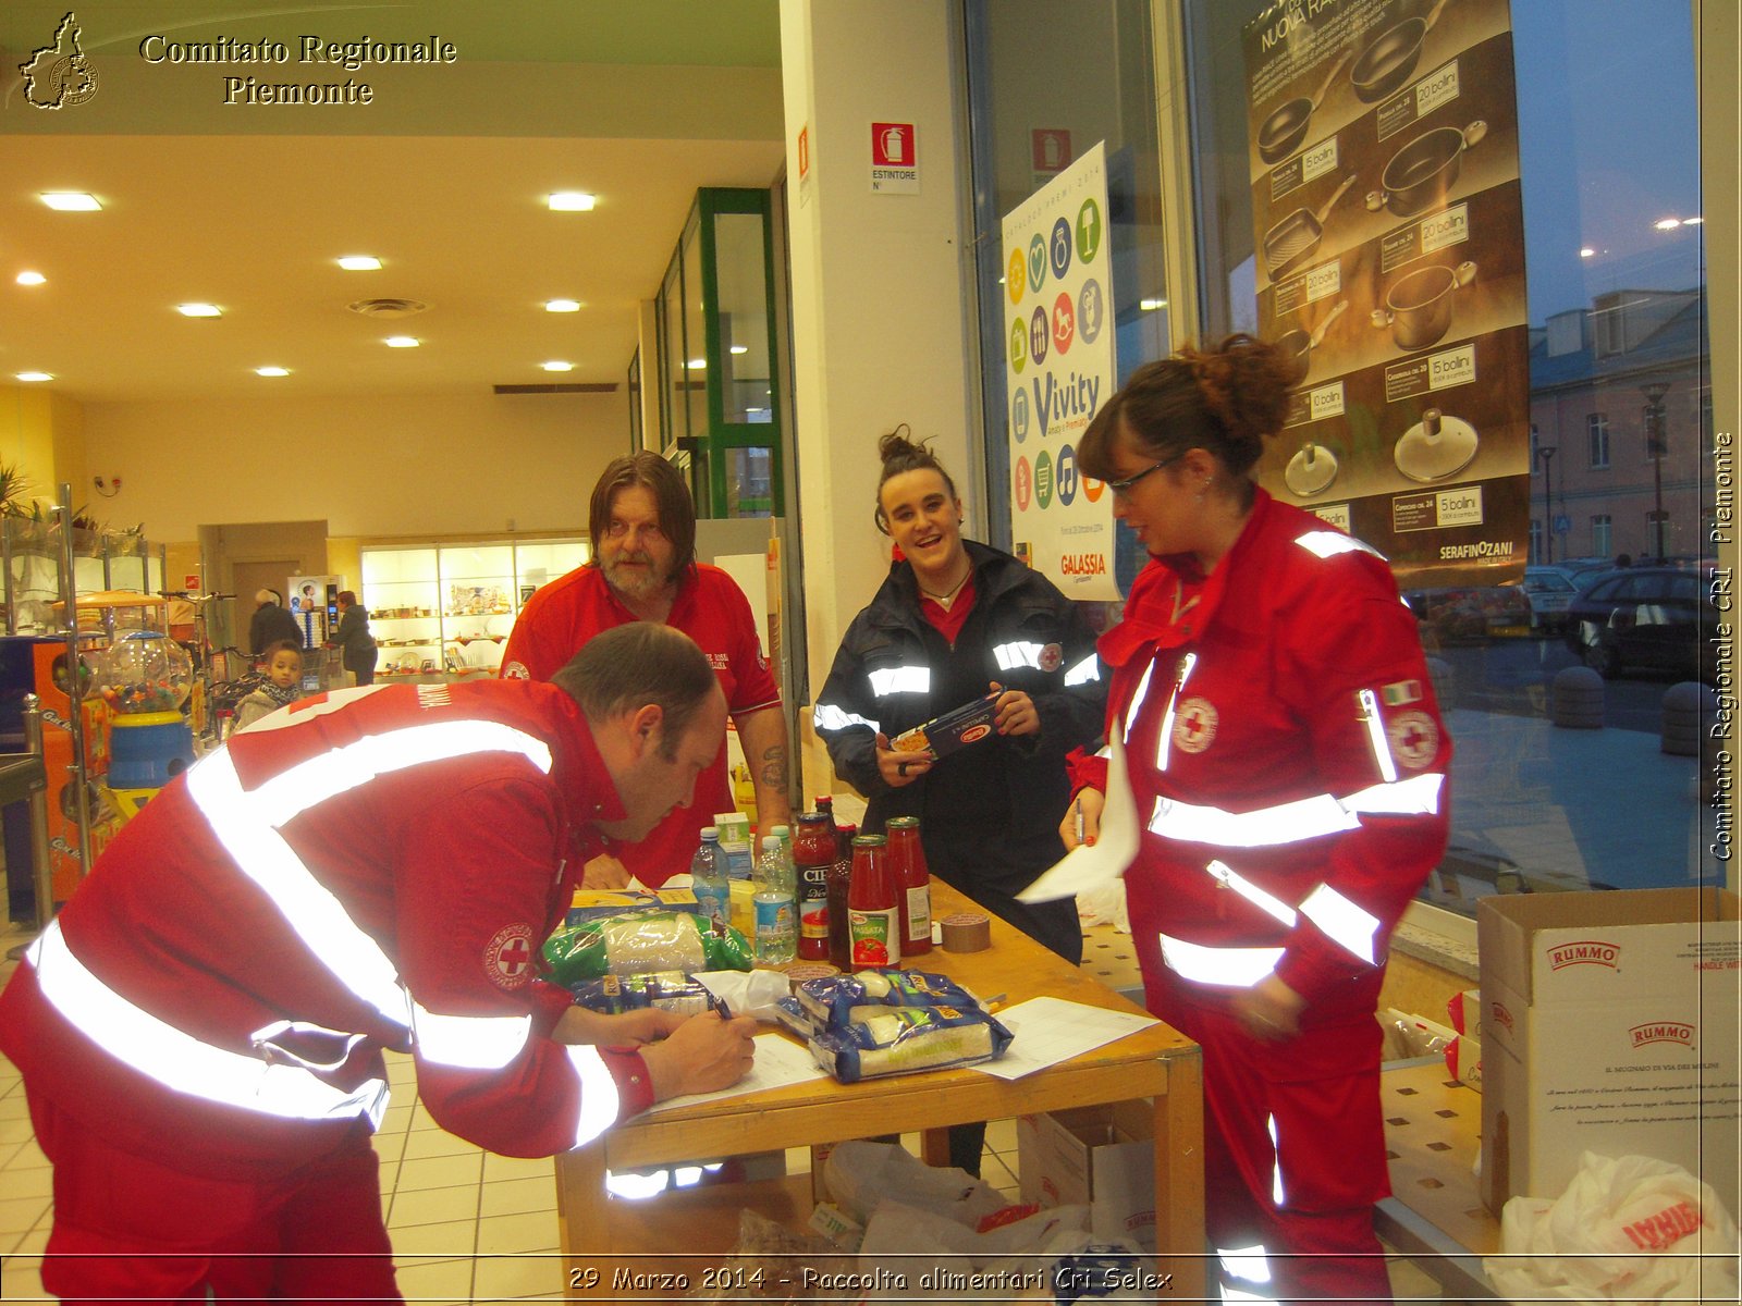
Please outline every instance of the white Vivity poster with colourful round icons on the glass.
[[1106, 146], [1003, 216], [1005, 392], [1016, 554], [1070, 599], [1120, 599], [1113, 498], [1077, 444], [1113, 394]]

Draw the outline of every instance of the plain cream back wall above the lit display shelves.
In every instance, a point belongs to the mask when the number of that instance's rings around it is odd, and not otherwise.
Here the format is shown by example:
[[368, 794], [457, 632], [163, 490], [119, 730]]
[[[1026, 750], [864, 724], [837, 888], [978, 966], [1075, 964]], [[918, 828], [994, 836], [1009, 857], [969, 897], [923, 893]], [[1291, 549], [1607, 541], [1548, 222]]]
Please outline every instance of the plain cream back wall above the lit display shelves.
[[[91, 404], [94, 515], [153, 542], [200, 524], [326, 521], [334, 536], [573, 531], [629, 451], [624, 392]], [[99, 498], [89, 477], [120, 479]], [[512, 522], [512, 528], [510, 528]]]

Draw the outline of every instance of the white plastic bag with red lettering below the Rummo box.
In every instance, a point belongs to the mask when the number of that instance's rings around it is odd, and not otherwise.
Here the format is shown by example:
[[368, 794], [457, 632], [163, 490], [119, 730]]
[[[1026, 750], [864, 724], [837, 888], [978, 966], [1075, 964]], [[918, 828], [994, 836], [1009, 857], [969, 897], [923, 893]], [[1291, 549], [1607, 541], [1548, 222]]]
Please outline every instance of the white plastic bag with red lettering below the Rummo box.
[[1509, 1256], [1484, 1257], [1519, 1301], [1737, 1301], [1737, 1224], [1709, 1184], [1651, 1156], [1585, 1153], [1554, 1202], [1500, 1215]]

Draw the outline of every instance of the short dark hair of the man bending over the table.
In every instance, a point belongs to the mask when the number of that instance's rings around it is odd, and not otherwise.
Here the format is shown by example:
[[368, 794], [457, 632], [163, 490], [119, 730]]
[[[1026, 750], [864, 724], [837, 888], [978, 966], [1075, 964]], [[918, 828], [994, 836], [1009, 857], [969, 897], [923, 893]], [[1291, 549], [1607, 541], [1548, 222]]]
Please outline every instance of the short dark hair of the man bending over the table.
[[625, 622], [594, 636], [550, 677], [589, 721], [610, 721], [657, 703], [664, 712], [660, 757], [678, 740], [719, 681], [690, 636], [658, 622]]

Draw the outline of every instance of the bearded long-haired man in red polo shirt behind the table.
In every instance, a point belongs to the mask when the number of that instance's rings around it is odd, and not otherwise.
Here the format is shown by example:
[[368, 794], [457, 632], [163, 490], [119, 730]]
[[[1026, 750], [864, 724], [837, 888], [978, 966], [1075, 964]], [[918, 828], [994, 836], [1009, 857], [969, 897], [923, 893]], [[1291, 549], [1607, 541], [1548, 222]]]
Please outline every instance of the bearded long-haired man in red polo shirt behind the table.
[[[732, 709], [756, 785], [756, 824], [791, 824], [786, 716], [768, 672], [756, 618], [725, 571], [695, 561], [695, 505], [676, 467], [655, 453], [613, 460], [587, 512], [592, 561], [540, 589], [521, 609], [502, 653], [502, 676], [547, 681], [601, 630], [662, 622], [707, 653]], [[690, 869], [702, 827], [732, 811], [725, 745], [695, 787], [695, 806], [674, 811], [641, 845], [611, 848], [587, 865], [587, 888], [622, 888], [634, 876], [658, 888]]]

